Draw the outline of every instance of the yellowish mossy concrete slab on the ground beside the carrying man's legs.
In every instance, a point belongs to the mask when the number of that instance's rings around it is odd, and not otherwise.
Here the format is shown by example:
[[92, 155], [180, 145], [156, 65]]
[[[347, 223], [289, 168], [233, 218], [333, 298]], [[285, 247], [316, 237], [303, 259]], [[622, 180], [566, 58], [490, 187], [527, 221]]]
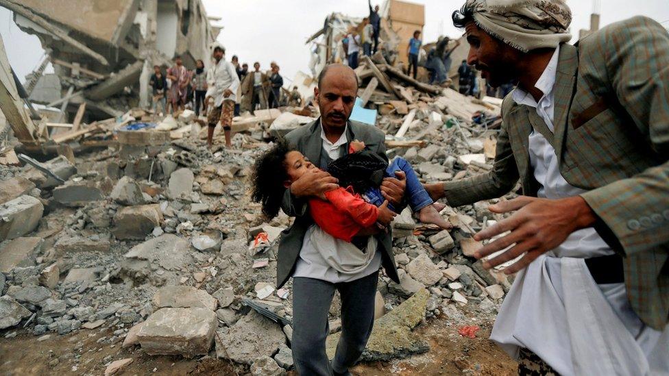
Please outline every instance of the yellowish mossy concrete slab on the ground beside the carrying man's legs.
[[[427, 342], [412, 332], [425, 317], [430, 292], [421, 289], [391, 312], [374, 323], [374, 329], [361, 355], [366, 362], [388, 362], [391, 359], [408, 358], [430, 349]], [[328, 336], [326, 352], [334, 358], [340, 333]]]

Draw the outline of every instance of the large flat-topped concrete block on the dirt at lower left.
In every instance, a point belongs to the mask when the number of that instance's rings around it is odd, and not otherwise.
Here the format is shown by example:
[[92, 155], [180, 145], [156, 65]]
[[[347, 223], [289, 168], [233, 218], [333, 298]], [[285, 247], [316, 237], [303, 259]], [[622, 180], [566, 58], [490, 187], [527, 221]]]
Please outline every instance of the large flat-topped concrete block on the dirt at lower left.
[[216, 314], [206, 308], [161, 308], [147, 318], [137, 333], [149, 355], [195, 355], [209, 353]]

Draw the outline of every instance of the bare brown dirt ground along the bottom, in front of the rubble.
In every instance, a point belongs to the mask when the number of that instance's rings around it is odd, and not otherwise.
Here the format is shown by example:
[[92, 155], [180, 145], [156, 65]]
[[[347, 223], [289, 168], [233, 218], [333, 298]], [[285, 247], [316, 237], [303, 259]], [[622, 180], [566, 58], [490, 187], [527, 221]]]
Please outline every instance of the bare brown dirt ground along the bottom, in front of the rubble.
[[[404, 360], [358, 364], [352, 373], [357, 376], [515, 375], [516, 363], [487, 339], [492, 322], [474, 323], [481, 330], [476, 338], [465, 338], [458, 334], [459, 324], [455, 320], [445, 316], [432, 318], [416, 328], [417, 334], [429, 342], [430, 351]], [[11, 332], [0, 333], [0, 375], [3, 376], [102, 375], [105, 364], [123, 358], [134, 358], [134, 362], [118, 375], [243, 375], [248, 371], [239, 364], [233, 366], [227, 360], [210, 356], [186, 360], [181, 356], [146, 355], [138, 348], [121, 349], [121, 342], [99, 344], [100, 338], [111, 336], [110, 329], [81, 329], [66, 336], [51, 334], [42, 342], [27, 333], [4, 338]], [[289, 375], [297, 373], [293, 371]]]

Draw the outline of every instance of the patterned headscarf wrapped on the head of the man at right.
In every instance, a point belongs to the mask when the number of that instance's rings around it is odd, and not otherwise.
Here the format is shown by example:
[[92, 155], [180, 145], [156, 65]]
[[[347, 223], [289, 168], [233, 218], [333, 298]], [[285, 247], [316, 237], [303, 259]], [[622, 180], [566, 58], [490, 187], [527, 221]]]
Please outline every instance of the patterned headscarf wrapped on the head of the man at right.
[[467, 0], [474, 22], [502, 42], [528, 52], [557, 47], [572, 35], [572, 12], [564, 0]]

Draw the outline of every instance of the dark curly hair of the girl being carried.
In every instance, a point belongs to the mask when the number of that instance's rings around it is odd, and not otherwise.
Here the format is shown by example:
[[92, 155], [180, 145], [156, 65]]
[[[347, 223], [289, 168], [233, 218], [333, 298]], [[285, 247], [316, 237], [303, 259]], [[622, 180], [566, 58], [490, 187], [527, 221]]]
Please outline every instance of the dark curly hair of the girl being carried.
[[287, 140], [278, 140], [276, 145], [256, 159], [251, 176], [251, 198], [263, 204], [263, 213], [269, 218], [279, 214], [285, 192], [283, 182], [289, 179], [284, 162], [286, 154], [294, 149]]

